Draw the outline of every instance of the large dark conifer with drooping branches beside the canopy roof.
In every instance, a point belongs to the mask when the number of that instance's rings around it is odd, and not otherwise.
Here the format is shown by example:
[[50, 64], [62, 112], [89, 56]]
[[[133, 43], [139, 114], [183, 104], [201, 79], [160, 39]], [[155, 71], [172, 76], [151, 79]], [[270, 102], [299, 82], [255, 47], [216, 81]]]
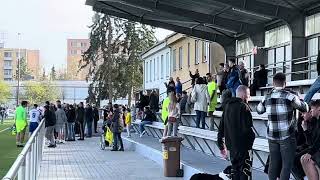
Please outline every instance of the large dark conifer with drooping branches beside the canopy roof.
[[92, 79], [88, 99], [131, 99], [132, 89], [142, 85], [141, 52], [155, 43], [153, 28], [109, 15], [95, 15], [90, 47], [81, 68], [89, 66]]

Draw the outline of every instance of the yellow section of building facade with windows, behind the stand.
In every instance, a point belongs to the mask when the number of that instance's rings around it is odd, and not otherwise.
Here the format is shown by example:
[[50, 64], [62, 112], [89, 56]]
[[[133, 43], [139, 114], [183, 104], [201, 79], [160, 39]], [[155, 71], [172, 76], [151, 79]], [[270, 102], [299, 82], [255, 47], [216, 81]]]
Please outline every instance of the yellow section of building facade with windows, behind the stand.
[[[190, 80], [189, 71], [194, 74], [198, 69], [200, 76], [216, 73], [219, 63], [225, 62], [225, 51], [217, 43], [196, 39], [184, 34], [174, 33], [167, 37], [171, 52], [171, 77], [179, 77], [181, 82]], [[191, 86], [186, 83], [183, 89]]]

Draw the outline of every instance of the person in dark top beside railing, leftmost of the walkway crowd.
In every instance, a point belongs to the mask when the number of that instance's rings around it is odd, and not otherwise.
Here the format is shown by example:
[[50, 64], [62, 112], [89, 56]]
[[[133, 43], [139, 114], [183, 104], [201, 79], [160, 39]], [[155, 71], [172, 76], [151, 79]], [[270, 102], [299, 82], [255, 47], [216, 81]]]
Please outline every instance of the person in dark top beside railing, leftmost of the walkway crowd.
[[45, 137], [49, 141], [49, 148], [55, 148], [56, 143], [54, 141], [54, 128], [56, 125], [56, 115], [55, 112], [52, 111], [53, 109], [50, 108], [49, 105], [44, 106], [44, 119], [45, 119], [45, 128], [46, 133]]

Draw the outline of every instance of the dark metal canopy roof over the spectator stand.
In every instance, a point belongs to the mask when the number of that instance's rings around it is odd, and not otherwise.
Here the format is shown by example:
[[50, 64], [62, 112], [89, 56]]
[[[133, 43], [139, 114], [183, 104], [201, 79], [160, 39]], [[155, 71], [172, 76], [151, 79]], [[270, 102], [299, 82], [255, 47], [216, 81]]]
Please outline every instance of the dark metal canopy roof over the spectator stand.
[[290, 23], [319, 0], [87, 0], [97, 12], [208, 39], [228, 46], [266, 23]]

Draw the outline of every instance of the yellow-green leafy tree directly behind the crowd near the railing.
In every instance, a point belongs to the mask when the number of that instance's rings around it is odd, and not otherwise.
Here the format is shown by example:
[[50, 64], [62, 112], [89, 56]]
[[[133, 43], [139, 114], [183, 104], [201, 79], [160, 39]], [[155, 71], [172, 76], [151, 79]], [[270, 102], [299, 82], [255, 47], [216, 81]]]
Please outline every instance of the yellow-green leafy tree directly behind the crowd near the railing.
[[24, 86], [22, 97], [31, 104], [41, 104], [57, 100], [60, 97], [60, 90], [51, 82], [29, 81]]

